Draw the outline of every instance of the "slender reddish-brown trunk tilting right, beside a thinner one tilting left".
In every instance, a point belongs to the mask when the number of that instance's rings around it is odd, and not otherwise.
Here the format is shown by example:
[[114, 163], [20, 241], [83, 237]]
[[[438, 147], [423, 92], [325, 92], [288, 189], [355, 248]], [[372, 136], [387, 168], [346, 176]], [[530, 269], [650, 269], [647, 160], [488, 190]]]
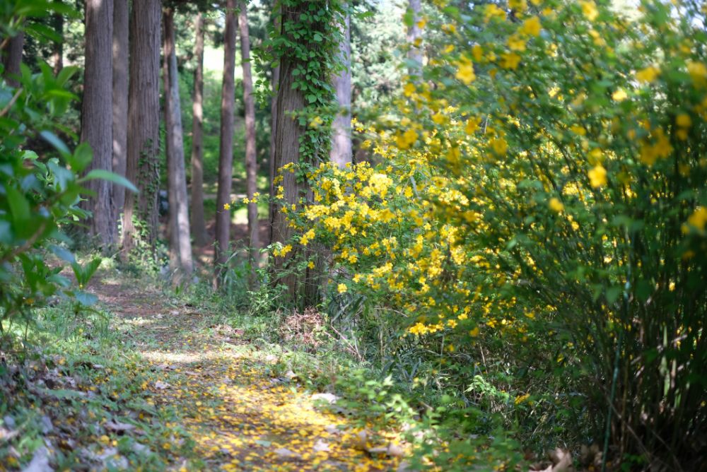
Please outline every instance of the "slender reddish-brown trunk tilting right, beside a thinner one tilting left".
[[216, 283], [228, 261], [230, 241], [230, 203], [233, 180], [233, 93], [235, 72], [235, 0], [226, 0], [226, 31], [223, 35], [223, 84], [221, 87], [221, 143], [218, 155], [218, 191], [216, 194]]

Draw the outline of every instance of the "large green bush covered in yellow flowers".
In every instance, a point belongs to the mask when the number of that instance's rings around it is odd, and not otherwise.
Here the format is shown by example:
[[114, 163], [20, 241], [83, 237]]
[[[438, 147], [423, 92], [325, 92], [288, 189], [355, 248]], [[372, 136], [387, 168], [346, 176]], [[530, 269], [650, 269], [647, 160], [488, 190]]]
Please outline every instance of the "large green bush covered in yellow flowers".
[[416, 355], [437, 353], [430, 381], [460, 405], [500, 399], [532, 420], [554, 396], [580, 442], [610, 437], [624, 459], [667, 467], [696, 456], [704, 12], [437, 3], [420, 24], [445, 33], [426, 81], [359, 127], [380, 165], [313, 172], [298, 244], [331, 247], [334, 301], [386, 310], [407, 331], [390, 352], [414, 336]]

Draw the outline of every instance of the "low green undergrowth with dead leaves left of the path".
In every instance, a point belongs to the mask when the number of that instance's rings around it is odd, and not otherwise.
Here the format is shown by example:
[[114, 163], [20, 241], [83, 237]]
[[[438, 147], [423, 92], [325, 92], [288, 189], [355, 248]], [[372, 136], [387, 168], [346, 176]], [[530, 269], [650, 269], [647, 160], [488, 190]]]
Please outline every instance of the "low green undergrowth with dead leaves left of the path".
[[[0, 470], [46, 457], [56, 470], [160, 471], [189, 456], [177, 412], [157, 408], [148, 389], [156, 373], [113, 326], [103, 309], [76, 314], [59, 302], [13, 327], [1, 344]], [[158, 446], [165, 441], [170, 455]]]

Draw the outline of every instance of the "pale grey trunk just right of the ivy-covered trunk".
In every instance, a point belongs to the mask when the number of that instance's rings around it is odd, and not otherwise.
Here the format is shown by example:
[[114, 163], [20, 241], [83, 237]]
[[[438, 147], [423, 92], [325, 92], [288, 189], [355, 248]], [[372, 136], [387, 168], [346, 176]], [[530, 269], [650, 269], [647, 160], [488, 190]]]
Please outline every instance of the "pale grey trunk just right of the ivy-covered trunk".
[[346, 13], [339, 59], [344, 67], [334, 76], [339, 114], [332, 124], [332, 149], [329, 159], [339, 167], [351, 163], [351, 14]]

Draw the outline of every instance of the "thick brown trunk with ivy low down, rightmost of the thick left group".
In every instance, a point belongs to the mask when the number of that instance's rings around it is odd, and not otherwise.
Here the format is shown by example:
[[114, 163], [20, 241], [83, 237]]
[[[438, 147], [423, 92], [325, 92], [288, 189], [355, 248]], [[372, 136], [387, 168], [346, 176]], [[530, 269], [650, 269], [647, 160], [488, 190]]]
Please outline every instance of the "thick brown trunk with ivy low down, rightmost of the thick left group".
[[[158, 230], [160, 185], [160, 0], [134, 1], [130, 15], [130, 78], [128, 84], [128, 154], [126, 177], [140, 194], [125, 194], [123, 250], [129, 253], [139, 237], [154, 250]], [[134, 219], [142, 228], [136, 228]]]

